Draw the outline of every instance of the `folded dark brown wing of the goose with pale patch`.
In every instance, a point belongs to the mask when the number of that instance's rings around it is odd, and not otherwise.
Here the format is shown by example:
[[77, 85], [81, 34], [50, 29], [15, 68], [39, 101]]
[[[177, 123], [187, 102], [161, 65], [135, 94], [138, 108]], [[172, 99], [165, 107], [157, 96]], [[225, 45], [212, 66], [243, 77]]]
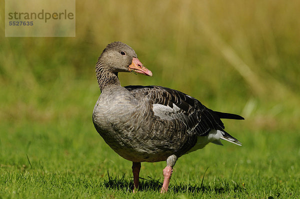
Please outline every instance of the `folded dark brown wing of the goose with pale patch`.
[[[155, 116], [186, 126], [186, 132], [205, 136], [210, 130], [224, 131], [218, 114], [197, 99], [180, 91], [161, 86], [125, 86], [136, 98], [146, 98]], [[235, 139], [235, 138], [234, 138]]]

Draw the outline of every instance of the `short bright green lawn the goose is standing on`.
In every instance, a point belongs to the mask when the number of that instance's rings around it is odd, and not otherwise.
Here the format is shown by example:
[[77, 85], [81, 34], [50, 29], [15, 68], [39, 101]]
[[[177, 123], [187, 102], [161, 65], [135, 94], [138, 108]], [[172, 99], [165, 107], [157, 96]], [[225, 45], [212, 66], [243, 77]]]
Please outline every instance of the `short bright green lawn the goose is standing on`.
[[297, 132], [287, 132], [287, 137], [274, 136], [279, 132], [234, 132], [243, 146], [209, 144], [180, 157], [169, 192], [160, 195], [165, 162], [142, 163], [140, 177], [144, 179], [140, 179], [140, 191], [132, 194], [131, 162], [114, 153], [91, 122], [78, 118], [34, 125], [2, 123], [0, 127], [5, 132], [0, 138], [4, 198], [296, 198], [300, 194]]

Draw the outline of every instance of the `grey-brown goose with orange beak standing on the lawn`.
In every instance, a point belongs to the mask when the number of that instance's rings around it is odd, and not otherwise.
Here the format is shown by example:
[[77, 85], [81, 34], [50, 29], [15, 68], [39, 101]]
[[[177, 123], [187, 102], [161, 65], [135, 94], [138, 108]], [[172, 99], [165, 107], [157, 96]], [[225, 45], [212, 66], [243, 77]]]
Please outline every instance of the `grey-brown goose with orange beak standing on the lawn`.
[[244, 119], [213, 111], [197, 99], [162, 86], [122, 87], [118, 72], [152, 76], [135, 51], [120, 41], [108, 44], [95, 67], [101, 94], [92, 121], [104, 141], [132, 161], [134, 189], [138, 188], [140, 162], [166, 161], [160, 192], [166, 192], [178, 157], [220, 139], [241, 145], [224, 130], [220, 118]]

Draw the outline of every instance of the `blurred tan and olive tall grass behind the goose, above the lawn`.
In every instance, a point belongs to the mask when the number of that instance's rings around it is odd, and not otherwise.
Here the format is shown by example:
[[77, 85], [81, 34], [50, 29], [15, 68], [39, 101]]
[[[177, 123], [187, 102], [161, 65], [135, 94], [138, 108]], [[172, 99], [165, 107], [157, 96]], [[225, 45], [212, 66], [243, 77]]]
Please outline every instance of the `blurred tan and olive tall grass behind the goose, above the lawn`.
[[1, 6], [0, 119], [48, 121], [57, 110], [79, 112], [80, 107], [70, 103], [82, 93], [73, 89], [87, 86], [92, 93], [98, 91], [96, 58], [107, 43], [120, 40], [154, 73], [153, 78], [120, 74], [123, 85], [172, 87], [209, 107], [241, 112], [257, 127], [296, 125], [299, 4], [77, 1], [74, 38], [4, 37]]

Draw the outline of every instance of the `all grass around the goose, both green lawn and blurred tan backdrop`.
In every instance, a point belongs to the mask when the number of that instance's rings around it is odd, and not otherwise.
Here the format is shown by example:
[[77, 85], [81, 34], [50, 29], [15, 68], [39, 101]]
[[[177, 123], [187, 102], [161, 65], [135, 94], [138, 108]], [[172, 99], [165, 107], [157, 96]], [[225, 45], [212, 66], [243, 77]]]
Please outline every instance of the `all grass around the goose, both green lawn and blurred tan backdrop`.
[[[74, 38], [4, 37], [0, 5], [0, 198], [300, 194], [298, 1], [77, 1]], [[153, 72], [119, 74], [122, 85], [163, 85], [241, 114], [224, 123], [243, 146], [183, 155], [163, 195], [165, 162], [142, 163], [133, 194], [131, 163], [91, 121], [94, 64], [114, 40]]]

